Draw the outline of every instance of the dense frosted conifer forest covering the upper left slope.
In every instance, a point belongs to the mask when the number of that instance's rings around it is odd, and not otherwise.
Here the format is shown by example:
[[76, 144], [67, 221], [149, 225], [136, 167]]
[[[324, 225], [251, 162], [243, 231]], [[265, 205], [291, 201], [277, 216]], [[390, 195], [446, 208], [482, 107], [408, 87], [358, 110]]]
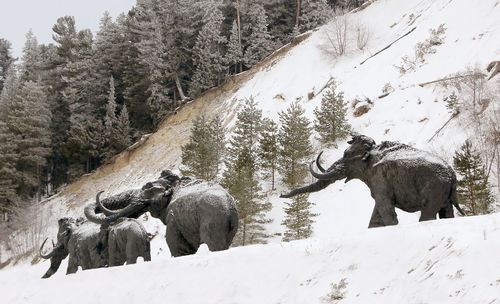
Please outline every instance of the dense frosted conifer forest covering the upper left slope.
[[0, 38], [0, 212], [93, 171], [332, 9], [362, 2], [144, 0], [105, 13], [95, 35], [71, 16], [55, 21], [53, 43], [30, 31], [21, 58]]

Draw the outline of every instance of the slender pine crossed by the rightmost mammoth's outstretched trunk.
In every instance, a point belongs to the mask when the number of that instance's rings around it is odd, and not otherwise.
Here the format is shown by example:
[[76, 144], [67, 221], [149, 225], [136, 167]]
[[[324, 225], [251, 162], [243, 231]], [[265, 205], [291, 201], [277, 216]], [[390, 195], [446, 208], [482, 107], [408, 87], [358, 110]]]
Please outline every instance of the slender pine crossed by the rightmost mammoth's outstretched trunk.
[[[289, 189], [299, 186], [304, 181], [307, 175], [306, 162], [312, 154], [309, 141], [311, 127], [304, 113], [304, 109], [295, 102], [279, 114], [281, 128], [278, 140], [280, 143], [278, 170]], [[311, 235], [312, 218], [316, 214], [311, 212], [312, 203], [307, 197], [307, 194], [297, 195], [291, 202], [286, 203], [286, 215], [282, 222], [286, 226], [284, 241], [307, 238]]]

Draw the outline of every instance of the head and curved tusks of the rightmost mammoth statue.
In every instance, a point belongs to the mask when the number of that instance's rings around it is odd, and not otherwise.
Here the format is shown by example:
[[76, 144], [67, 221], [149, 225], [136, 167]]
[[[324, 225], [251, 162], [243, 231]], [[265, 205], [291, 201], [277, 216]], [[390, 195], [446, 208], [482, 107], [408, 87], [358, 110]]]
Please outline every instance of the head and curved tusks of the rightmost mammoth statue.
[[314, 177], [320, 180], [347, 178], [346, 182], [358, 177], [358, 172], [366, 166], [366, 161], [370, 157], [371, 149], [375, 146], [375, 141], [358, 133], [353, 133], [351, 136], [351, 140], [347, 142], [350, 146], [344, 151], [344, 156], [333, 163], [328, 170], [323, 169], [320, 165], [319, 158], [322, 153], [316, 158], [317, 167], [322, 173], [315, 172], [312, 168], [313, 162], [311, 162], [309, 170]]

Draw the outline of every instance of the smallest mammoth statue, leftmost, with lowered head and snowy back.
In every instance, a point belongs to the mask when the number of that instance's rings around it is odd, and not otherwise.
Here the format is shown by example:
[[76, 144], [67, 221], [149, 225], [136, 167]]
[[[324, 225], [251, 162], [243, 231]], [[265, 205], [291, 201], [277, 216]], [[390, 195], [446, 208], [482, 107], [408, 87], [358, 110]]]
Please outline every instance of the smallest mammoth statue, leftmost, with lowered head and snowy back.
[[123, 219], [113, 225], [99, 226], [83, 218], [59, 219], [57, 243], [48, 254], [40, 256], [50, 259], [50, 268], [42, 278], [49, 278], [59, 269], [62, 260], [69, 255], [66, 274], [75, 273], [78, 266], [83, 270], [108, 266], [133, 264], [137, 257], [151, 260], [149, 236], [137, 220]]

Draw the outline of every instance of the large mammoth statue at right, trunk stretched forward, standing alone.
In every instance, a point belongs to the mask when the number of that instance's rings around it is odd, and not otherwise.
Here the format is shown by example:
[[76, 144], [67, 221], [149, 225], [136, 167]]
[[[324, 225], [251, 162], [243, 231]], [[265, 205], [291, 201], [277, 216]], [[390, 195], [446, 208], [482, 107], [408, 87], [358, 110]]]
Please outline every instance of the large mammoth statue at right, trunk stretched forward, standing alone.
[[439, 157], [398, 142], [375, 144], [368, 136], [353, 134], [344, 156], [327, 170], [316, 158], [321, 173], [308, 186], [297, 188], [280, 197], [316, 192], [337, 180], [359, 179], [375, 199], [369, 228], [396, 225], [395, 207], [406, 212], [421, 211], [420, 221], [454, 217], [453, 206], [463, 215], [457, 200], [457, 178], [453, 169]]

